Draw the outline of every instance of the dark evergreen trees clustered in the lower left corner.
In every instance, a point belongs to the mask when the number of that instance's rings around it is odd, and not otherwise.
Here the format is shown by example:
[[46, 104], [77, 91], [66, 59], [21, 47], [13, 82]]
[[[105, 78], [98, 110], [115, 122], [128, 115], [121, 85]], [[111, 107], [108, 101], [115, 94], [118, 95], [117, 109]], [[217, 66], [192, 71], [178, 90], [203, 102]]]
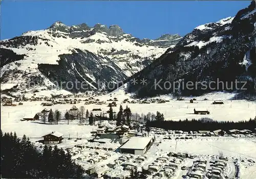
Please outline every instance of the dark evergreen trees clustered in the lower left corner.
[[1, 178], [81, 178], [69, 152], [45, 145], [38, 151], [25, 135], [1, 131]]

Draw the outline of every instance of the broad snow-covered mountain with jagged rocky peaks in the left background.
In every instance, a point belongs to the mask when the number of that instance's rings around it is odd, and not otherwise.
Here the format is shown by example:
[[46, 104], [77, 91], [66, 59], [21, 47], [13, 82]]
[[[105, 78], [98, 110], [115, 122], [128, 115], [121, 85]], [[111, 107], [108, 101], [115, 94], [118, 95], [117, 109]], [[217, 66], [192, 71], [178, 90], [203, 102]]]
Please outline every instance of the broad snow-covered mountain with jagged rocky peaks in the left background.
[[120, 82], [142, 70], [179, 40], [178, 34], [140, 40], [118, 25], [69, 27], [57, 21], [48, 29], [1, 41], [1, 90], [24, 90], [34, 83], [34, 88], [54, 88], [53, 82], [75, 81], [99, 89], [99, 84]]

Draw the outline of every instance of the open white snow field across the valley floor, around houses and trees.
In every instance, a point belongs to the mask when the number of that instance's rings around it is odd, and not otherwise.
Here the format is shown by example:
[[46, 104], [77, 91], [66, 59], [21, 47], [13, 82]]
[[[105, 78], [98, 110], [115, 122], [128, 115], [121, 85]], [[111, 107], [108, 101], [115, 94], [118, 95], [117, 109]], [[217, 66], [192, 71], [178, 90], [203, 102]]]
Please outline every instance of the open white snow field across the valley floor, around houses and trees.
[[[161, 98], [168, 99], [170, 102], [166, 102], [164, 104], [122, 104], [121, 101], [125, 98], [131, 99], [130, 95], [125, 95], [120, 92], [113, 92], [112, 94], [107, 94], [103, 96], [98, 96], [100, 100], [108, 100], [110, 98], [117, 97], [119, 101], [117, 101], [118, 106], [114, 107], [114, 111], [118, 111], [119, 105], [125, 107], [129, 106], [133, 113], [156, 113], [156, 111], [160, 111], [164, 114], [165, 119], [191, 119], [191, 118], [201, 118], [201, 117], [211, 117], [215, 120], [248, 120], [249, 118], [254, 118], [256, 106], [255, 103], [245, 101], [245, 100], [228, 100], [232, 97], [232, 94], [228, 96], [225, 94], [225, 98], [223, 94], [211, 94], [207, 96], [201, 96], [197, 98], [198, 104], [186, 104], [187, 100], [177, 101], [172, 100], [171, 96], [161, 96]], [[160, 97], [158, 97], [160, 98]], [[208, 98], [209, 100], [202, 100], [204, 98]], [[79, 98], [76, 98], [79, 99]], [[80, 98], [81, 100], [86, 98]], [[221, 99], [224, 100], [224, 105], [211, 105], [212, 99]], [[67, 121], [60, 121], [57, 125], [50, 124], [41, 124], [38, 121], [20, 121], [25, 115], [32, 114], [34, 115], [37, 112], [40, 112], [43, 109], [52, 109], [53, 111], [58, 109], [62, 112], [62, 116], [65, 114], [66, 110], [69, 110], [72, 106], [70, 104], [66, 105], [54, 105], [52, 107], [44, 107], [40, 104], [44, 101], [25, 101], [23, 102], [23, 106], [2, 106], [1, 107], [1, 129], [3, 132], [16, 132], [18, 137], [22, 137], [23, 134], [28, 136], [32, 142], [38, 141], [41, 136], [48, 134], [52, 131], [57, 131], [63, 134], [63, 142], [58, 144], [58, 147], [67, 148], [73, 147], [74, 145], [89, 145], [89, 146], [102, 146], [102, 147], [112, 147], [118, 148], [120, 144], [118, 143], [105, 143], [99, 144], [97, 142], [89, 143], [88, 139], [91, 139], [91, 131], [96, 130], [97, 126], [94, 125], [78, 125], [78, 121], [70, 121], [69, 125]], [[108, 101], [106, 101], [108, 103]], [[94, 108], [101, 108], [103, 111], [109, 110], [107, 105], [84, 105], [84, 101], [76, 104], [76, 107], [85, 106], [86, 109], [91, 111]], [[193, 113], [194, 108], [207, 108], [211, 114], [210, 115], [194, 115], [189, 114]], [[249, 112], [248, 112], [249, 111]], [[72, 140], [68, 140], [67, 138], [72, 138]], [[81, 140], [77, 140], [76, 138], [82, 138]], [[171, 137], [173, 140], [163, 139], [163, 135], [156, 135], [156, 143], [148, 150], [146, 156], [147, 160], [139, 165], [147, 166], [152, 163], [154, 160], [161, 156], [166, 156], [168, 152], [187, 152], [189, 154], [199, 155], [200, 158], [205, 158], [207, 160], [211, 160], [212, 156], [218, 156], [220, 152], [223, 152], [223, 155], [229, 158], [229, 168], [226, 173], [234, 173], [234, 166], [232, 165], [232, 161], [239, 160], [240, 163], [240, 172], [242, 179], [252, 179], [256, 178], [256, 165], [251, 165], [246, 163], [247, 159], [256, 160], [256, 138], [232, 138], [232, 137], [198, 137], [194, 139], [187, 140], [174, 140], [174, 137]], [[161, 141], [161, 142], [160, 142]], [[177, 143], [176, 143], [177, 142]], [[177, 144], [177, 146], [176, 146]], [[87, 149], [88, 152], [98, 151], [100, 154], [105, 154], [107, 151], [102, 149]], [[108, 151], [111, 154], [108, 159], [97, 163], [97, 167], [100, 169], [101, 166], [106, 167], [105, 165], [111, 161], [114, 161], [120, 154], [115, 152]], [[78, 157], [78, 156], [76, 156]], [[131, 160], [136, 158], [136, 156]], [[244, 160], [245, 163], [241, 161]], [[76, 160], [77, 161], [77, 160]], [[80, 164], [83, 164], [80, 162]], [[192, 161], [186, 160], [184, 163], [180, 164], [191, 166], [193, 164]], [[86, 164], [87, 165], [87, 164]], [[182, 178], [182, 175], [186, 174], [186, 170], [179, 169], [176, 171], [176, 175], [173, 178]], [[127, 170], [123, 170], [122, 167], [117, 167], [112, 170], [115, 172], [127, 172]], [[155, 178], [155, 177], [153, 177]]]

